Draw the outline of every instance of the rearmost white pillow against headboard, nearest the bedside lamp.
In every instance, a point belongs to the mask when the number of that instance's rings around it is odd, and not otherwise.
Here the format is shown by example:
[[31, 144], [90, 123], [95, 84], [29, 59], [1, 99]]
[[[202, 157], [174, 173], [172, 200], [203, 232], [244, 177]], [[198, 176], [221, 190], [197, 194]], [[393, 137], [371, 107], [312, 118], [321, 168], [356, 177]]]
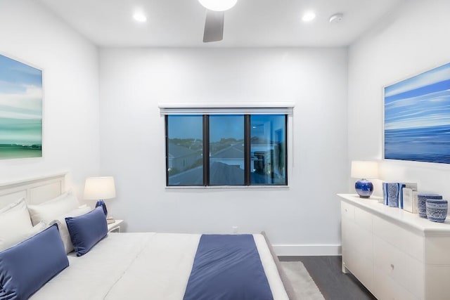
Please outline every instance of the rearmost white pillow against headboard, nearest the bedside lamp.
[[69, 190], [39, 205], [28, 205], [28, 211], [30, 211], [33, 225], [36, 225], [41, 221], [49, 223], [49, 221], [57, 219], [58, 216], [67, 214], [77, 207], [79, 207], [78, 199], [72, 193], [72, 190]]

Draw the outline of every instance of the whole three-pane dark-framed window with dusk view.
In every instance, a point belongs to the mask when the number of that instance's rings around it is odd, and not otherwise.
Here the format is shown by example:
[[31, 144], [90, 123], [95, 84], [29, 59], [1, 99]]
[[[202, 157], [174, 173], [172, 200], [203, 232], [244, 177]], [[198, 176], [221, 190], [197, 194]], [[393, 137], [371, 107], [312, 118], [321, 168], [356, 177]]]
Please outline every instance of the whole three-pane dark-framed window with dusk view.
[[167, 186], [288, 185], [288, 115], [165, 115]]

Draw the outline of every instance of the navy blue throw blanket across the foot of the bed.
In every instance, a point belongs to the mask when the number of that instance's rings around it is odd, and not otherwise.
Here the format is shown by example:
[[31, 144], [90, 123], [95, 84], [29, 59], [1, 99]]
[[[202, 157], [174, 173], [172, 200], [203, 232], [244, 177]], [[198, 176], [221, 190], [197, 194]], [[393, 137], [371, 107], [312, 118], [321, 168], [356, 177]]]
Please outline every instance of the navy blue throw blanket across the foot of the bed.
[[252, 235], [202, 235], [184, 300], [274, 299]]

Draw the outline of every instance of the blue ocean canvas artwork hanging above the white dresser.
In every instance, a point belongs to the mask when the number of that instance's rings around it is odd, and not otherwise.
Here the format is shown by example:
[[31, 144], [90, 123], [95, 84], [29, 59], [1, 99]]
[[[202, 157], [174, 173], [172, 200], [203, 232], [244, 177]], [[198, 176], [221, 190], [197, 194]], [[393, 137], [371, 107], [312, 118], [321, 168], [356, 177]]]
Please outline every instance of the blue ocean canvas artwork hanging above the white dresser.
[[450, 63], [385, 88], [385, 159], [450, 164]]

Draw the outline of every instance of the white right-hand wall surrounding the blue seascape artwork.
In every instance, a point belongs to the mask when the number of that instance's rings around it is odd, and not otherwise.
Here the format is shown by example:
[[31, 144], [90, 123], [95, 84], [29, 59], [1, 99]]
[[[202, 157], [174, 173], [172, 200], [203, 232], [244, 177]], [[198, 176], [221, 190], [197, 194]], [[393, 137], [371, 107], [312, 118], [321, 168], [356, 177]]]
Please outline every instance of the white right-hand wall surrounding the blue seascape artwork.
[[[384, 86], [450, 62], [449, 12], [448, 0], [405, 1], [349, 48], [350, 160], [382, 158]], [[417, 182], [420, 191], [450, 200], [447, 164], [386, 160], [380, 178]]]

